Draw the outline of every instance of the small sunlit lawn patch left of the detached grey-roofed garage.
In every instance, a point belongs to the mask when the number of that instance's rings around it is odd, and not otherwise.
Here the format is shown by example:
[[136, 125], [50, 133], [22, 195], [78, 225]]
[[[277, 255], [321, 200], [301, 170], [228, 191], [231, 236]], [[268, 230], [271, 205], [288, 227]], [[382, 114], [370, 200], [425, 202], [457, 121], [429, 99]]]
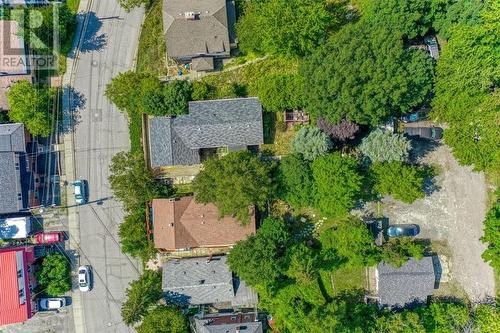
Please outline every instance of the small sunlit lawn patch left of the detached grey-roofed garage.
[[344, 267], [333, 272], [322, 271], [320, 277], [330, 297], [346, 291], [364, 290], [366, 287], [366, 269], [364, 267]]

